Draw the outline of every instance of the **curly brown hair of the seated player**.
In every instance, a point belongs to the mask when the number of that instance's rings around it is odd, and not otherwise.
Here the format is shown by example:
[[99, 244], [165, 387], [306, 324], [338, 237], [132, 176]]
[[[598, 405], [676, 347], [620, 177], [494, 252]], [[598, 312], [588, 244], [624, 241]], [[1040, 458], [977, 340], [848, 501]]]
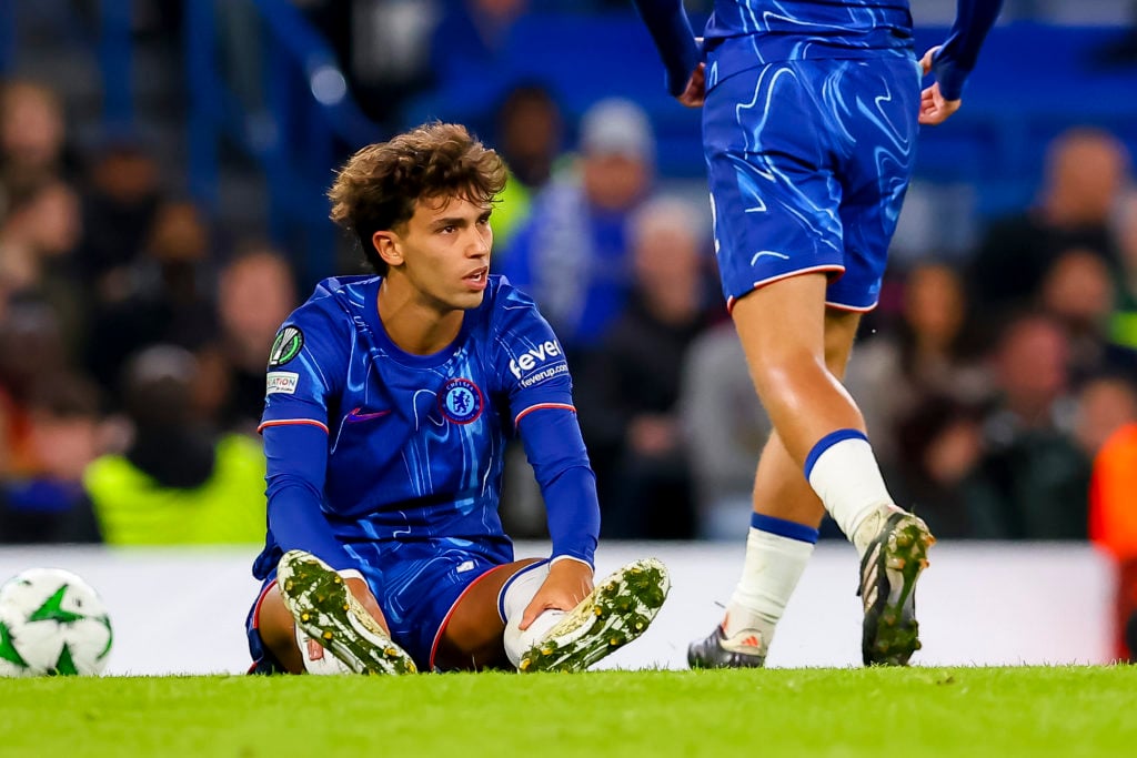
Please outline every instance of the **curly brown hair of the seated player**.
[[356, 152], [327, 191], [331, 217], [354, 232], [367, 264], [379, 274], [387, 263], [372, 238], [405, 224], [422, 198], [460, 197], [493, 202], [505, 189], [506, 168], [460, 124], [434, 122]]

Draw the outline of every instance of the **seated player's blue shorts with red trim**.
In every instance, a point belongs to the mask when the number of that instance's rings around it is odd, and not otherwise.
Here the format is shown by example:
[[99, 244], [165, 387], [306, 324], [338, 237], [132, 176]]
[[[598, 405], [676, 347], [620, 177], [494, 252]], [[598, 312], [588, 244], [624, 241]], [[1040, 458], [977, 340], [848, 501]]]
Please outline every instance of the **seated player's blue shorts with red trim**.
[[[391, 640], [407, 651], [421, 672], [433, 669], [434, 649], [449, 615], [462, 597], [478, 580], [495, 568], [508, 564], [504, 555], [485, 555], [464, 550], [450, 541], [422, 543], [355, 544], [349, 553], [358, 558], [358, 569], [391, 630]], [[490, 553], [497, 552], [491, 550]], [[258, 631], [260, 602], [276, 582], [276, 570], [264, 581], [257, 600], [246, 619], [250, 673], [274, 673], [283, 668], [265, 648]]]

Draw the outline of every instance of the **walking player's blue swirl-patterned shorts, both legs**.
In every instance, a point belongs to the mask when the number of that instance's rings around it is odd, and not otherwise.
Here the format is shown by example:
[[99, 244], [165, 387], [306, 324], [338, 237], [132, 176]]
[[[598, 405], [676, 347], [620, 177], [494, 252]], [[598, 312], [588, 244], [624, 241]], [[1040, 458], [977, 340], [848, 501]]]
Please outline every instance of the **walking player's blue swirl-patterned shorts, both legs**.
[[703, 138], [728, 306], [825, 272], [828, 305], [875, 307], [919, 108], [911, 56], [789, 60], [711, 86]]

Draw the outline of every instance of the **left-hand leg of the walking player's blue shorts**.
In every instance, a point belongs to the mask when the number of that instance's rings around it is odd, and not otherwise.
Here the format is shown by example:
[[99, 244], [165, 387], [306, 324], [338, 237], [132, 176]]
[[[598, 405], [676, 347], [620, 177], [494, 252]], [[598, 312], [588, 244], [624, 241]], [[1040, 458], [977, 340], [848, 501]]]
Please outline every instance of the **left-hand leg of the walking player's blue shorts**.
[[832, 124], [804, 63], [740, 72], [707, 93], [704, 150], [728, 301], [803, 272], [844, 269]]

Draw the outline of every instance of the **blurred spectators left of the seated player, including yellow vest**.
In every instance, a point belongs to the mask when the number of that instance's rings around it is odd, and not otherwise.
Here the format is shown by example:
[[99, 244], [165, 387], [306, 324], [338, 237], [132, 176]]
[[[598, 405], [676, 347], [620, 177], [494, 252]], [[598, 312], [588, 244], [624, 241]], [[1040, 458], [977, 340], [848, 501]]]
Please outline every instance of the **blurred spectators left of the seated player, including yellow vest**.
[[289, 261], [219, 239], [144, 141], [80, 155], [0, 89], [0, 542], [264, 538], [264, 366]]

